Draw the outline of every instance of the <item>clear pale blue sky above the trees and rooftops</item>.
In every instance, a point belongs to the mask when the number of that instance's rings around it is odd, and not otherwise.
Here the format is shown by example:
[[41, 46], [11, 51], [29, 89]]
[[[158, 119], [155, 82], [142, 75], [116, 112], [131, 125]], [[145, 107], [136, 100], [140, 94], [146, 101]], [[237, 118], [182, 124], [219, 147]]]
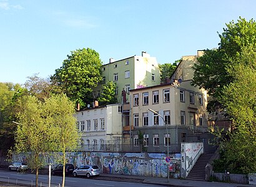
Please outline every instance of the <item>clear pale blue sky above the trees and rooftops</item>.
[[0, 0], [0, 82], [46, 78], [87, 47], [104, 63], [142, 51], [173, 63], [218, 47], [225, 23], [255, 20], [255, 7], [255, 0]]

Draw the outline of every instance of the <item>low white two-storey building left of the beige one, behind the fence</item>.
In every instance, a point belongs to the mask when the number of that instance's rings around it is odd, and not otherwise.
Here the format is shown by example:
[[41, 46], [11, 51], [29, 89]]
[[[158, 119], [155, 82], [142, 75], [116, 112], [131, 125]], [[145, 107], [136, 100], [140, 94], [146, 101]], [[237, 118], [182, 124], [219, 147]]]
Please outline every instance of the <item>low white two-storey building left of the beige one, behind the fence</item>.
[[[81, 151], [119, 151], [122, 145], [122, 106], [82, 109], [76, 113]], [[113, 146], [116, 145], [116, 146]]]

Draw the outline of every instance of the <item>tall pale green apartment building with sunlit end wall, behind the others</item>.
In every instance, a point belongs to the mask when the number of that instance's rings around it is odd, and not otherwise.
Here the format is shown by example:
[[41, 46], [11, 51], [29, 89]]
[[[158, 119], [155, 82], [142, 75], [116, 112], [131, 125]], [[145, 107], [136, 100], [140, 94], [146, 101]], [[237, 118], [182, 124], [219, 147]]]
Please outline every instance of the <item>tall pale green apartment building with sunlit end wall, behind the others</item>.
[[[106, 81], [114, 81], [117, 85], [116, 98], [122, 102], [122, 90], [127, 93], [129, 101], [129, 90], [154, 86], [160, 84], [160, 70], [155, 57], [149, 53], [142, 52], [141, 56], [134, 55], [122, 60], [109, 59], [109, 63], [102, 65], [102, 84]], [[94, 88], [94, 98], [101, 94], [101, 85]]]

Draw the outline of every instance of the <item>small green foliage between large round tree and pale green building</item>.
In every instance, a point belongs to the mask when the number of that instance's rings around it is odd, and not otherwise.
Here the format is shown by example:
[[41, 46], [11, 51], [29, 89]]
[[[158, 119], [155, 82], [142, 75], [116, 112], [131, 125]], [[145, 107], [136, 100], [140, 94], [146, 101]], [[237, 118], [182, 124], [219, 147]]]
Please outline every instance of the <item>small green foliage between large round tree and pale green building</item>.
[[97, 98], [100, 106], [106, 106], [107, 104], [116, 104], [116, 83], [113, 81], [107, 81], [106, 84], [102, 85], [102, 93]]

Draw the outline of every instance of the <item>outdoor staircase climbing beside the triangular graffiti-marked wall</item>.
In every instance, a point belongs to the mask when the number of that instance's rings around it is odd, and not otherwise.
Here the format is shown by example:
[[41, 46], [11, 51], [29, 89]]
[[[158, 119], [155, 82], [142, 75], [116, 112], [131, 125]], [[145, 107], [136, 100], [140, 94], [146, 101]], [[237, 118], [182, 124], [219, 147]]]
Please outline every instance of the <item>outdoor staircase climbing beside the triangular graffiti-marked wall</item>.
[[200, 155], [192, 170], [187, 176], [187, 180], [205, 181], [205, 166], [214, 153], [204, 153]]

